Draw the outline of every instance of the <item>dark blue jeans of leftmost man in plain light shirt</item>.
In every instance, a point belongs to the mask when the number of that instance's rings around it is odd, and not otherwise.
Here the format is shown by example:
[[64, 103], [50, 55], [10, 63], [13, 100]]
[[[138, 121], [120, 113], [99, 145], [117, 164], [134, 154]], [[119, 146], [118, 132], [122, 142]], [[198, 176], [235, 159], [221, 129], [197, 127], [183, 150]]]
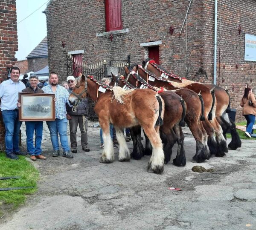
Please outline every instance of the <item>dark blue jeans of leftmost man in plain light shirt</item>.
[[20, 138], [20, 126], [22, 121], [19, 121], [19, 111], [15, 110], [3, 110], [2, 112], [3, 123], [6, 129], [5, 134], [5, 147], [6, 154], [11, 152], [20, 152], [19, 138]]

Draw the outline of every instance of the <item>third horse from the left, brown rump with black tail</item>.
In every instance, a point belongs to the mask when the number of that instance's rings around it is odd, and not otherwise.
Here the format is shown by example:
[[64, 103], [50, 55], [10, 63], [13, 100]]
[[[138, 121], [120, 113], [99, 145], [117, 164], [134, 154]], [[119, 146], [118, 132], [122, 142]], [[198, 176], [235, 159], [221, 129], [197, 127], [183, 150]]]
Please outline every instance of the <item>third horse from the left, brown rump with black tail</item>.
[[[134, 66], [134, 71], [137, 69], [137, 65]], [[129, 80], [129, 83], [141, 87], [148, 85], [143, 79], [140, 78], [135, 72], [128, 72], [128, 68], [125, 68], [125, 73], [128, 74], [126, 80]], [[167, 91], [172, 92], [172, 91]], [[175, 90], [175, 93], [179, 96], [182, 96], [187, 105], [185, 121], [191, 130], [195, 141], [196, 141], [196, 154], [193, 156], [193, 160], [196, 162], [203, 162], [210, 157], [209, 147], [207, 146], [207, 132], [205, 131], [203, 124], [201, 123], [202, 105], [198, 95], [190, 89], [178, 89]], [[160, 94], [161, 95], [161, 94]], [[164, 98], [163, 98], [164, 99]], [[187, 103], [188, 102], [188, 103]], [[166, 101], [165, 101], [166, 103]], [[165, 117], [167, 114], [165, 115]], [[165, 154], [166, 156], [166, 154]]]

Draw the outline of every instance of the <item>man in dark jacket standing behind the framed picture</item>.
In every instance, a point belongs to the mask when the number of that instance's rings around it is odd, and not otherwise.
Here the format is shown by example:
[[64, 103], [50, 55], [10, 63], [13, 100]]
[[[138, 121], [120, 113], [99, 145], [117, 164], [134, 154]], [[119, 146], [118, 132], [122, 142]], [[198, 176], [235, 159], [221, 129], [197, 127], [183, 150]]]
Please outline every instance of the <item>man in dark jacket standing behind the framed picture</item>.
[[[26, 89], [23, 89], [22, 92], [26, 93], [44, 93], [42, 89], [38, 88], [38, 76], [30, 75], [29, 83], [30, 86]], [[17, 106], [20, 107], [20, 103], [17, 103]], [[30, 155], [30, 159], [35, 161], [36, 159], [45, 160], [46, 157], [43, 156], [41, 143], [43, 136], [43, 121], [25, 121], [26, 124], [26, 144], [27, 151]], [[33, 144], [33, 135], [35, 131], [35, 147]]]

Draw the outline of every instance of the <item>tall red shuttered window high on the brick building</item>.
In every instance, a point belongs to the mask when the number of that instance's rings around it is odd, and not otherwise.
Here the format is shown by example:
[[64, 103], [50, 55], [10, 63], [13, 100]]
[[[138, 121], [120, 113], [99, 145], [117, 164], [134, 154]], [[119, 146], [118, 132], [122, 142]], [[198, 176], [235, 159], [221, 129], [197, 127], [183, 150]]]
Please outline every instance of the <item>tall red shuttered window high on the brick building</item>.
[[106, 32], [122, 29], [121, 0], [105, 0]]

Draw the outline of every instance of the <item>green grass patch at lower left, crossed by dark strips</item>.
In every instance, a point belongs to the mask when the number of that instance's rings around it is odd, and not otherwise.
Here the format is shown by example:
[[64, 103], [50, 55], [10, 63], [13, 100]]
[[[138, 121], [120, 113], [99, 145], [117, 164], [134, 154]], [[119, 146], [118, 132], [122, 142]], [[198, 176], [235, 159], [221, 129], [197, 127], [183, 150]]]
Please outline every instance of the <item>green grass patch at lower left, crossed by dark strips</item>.
[[5, 153], [0, 152], [0, 177], [20, 176], [18, 179], [0, 180], [0, 188], [29, 186], [34, 188], [0, 191], [0, 210], [17, 208], [25, 202], [27, 194], [37, 191], [38, 170], [25, 159], [25, 156], [18, 157], [19, 160], [11, 160], [6, 158]]

